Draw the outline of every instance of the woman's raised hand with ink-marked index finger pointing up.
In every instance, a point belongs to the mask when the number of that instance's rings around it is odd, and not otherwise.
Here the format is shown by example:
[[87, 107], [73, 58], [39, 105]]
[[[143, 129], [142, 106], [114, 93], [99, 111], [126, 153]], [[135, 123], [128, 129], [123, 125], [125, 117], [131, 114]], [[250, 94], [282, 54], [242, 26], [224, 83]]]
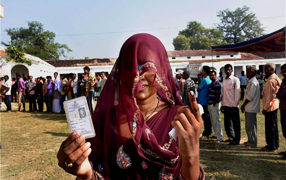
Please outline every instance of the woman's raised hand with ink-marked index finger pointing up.
[[172, 126], [178, 133], [179, 151], [183, 159], [197, 158], [199, 156], [199, 137], [202, 129], [202, 118], [193, 91], [189, 93], [191, 108], [179, 107]]

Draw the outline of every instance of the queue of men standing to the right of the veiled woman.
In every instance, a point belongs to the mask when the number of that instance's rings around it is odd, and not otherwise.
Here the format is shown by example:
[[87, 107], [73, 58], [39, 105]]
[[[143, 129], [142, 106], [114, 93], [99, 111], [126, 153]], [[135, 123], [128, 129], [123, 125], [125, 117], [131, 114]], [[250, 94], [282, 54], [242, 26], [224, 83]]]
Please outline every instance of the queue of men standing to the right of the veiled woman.
[[[263, 76], [257, 75], [255, 66], [248, 66], [246, 75], [244, 71], [241, 71], [239, 78], [233, 75], [232, 65], [226, 64], [224, 70], [225, 78], [222, 76], [222, 72], [217, 77], [217, 72], [208, 66], [203, 66], [199, 74], [203, 79], [196, 89], [198, 92], [197, 102], [204, 109], [204, 114], [202, 114], [204, 131], [200, 138], [216, 138], [215, 143], [227, 142], [228, 145], [239, 145], [241, 139], [239, 103], [240, 100], [243, 100], [240, 110], [245, 114], [245, 129], [248, 139], [243, 145], [249, 149], [257, 147], [257, 113], [260, 112], [260, 98], [262, 98], [266, 145], [261, 148], [261, 151], [276, 152], [279, 149], [278, 108], [281, 113], [283, 136], [286, 138], [286, 64], [281, 66], [281, 74], [284, 77], [282, 82], [275, 74], [275, 64], [265, 64], [264, 72], [268, 79], [263, 92], [261, 87]], [[199, 75], [198, 77], [200, 77]], [[177, 71], [176, 78], [179, 79], [179, 83], [185, 79], [182, 87], [179, 87], [183, 103], [190, 106], [187, 97], [190, 91], [195, 91], [194, 81], [190, 79], [188, 71]], [[223, 139], [220, 112], [224, 114], [226, 140]], [[214, 136], [210, 136], [212, 130]], [[283, 153], [285, 158], [285, 152]]]

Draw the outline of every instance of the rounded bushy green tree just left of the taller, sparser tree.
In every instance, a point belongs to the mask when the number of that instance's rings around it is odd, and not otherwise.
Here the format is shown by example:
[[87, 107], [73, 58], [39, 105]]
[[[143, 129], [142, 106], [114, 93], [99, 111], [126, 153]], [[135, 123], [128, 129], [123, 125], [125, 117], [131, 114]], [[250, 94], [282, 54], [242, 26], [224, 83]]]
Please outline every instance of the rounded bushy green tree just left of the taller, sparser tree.
[[217, 28], [205, 28], [197, 21], [190, 21], [187, 28], [173, 39], [175, 50], [211, 49], [211, 45], [223, 45], [223, 32]]

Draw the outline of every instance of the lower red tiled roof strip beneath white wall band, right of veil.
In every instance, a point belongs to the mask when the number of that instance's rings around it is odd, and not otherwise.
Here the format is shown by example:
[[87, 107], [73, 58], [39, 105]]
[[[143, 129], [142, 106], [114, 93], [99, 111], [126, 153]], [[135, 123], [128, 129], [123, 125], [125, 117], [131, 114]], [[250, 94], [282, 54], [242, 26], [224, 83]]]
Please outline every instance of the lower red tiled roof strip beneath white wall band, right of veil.
[[[242, 61], [242, 60], [255, 60], [255, 59], [264, 59], [263, 57], [251, 54], [251, 53], [241, 53], [241, 58], [224, 58], [224, 59], [214, 59], [213, 62], [219, 61]], [[212, 62], [212, 59], [201, 59], [201, 60], [190, 60], [190, 61], [170, 61], [172, 62], [188, 62], [189, 64], [192, 63], [209, 63]]]

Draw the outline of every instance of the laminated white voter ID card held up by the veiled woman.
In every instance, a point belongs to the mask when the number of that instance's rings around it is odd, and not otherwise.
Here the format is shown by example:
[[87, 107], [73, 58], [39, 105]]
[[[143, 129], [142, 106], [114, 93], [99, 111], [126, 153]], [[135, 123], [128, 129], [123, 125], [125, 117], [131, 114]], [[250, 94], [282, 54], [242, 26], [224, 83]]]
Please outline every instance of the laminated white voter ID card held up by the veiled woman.
[[63, 107], [65, 108], [70, 133], [78, 131], [78, 135], [84, 135], [86, 139], [95, 136], [85, 96], [64, 101]]

